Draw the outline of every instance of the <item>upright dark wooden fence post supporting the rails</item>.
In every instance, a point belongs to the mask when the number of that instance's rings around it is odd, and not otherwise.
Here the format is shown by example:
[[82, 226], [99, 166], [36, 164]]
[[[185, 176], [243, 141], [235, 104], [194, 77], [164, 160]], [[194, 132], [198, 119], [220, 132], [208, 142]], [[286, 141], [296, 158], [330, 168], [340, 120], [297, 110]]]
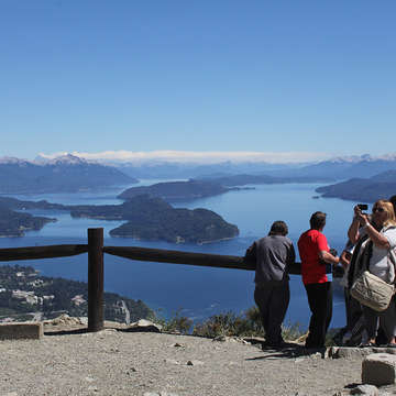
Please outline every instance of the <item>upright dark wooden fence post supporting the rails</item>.
[[103, 229], [88, 229], [88, 331], [103, 328]]

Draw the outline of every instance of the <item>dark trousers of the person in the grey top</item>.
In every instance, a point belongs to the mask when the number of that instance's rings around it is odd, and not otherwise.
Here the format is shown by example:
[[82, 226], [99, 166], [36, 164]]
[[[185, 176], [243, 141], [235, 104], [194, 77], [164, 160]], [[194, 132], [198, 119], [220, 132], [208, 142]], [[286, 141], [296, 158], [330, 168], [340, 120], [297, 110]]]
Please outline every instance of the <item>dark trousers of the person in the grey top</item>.
[[290, 300], [288, 280], [266, 282], [256, 286], [254, 300], [260, 309], [265, 341], [272, 345], [280, 344], [282, 322]]

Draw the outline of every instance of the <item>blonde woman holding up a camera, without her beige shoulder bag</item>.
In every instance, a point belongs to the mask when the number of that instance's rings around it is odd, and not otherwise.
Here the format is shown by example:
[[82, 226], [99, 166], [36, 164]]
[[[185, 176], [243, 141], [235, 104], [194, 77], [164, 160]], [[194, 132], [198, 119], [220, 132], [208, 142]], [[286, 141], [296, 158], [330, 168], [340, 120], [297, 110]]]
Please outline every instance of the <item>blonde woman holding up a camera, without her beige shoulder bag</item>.
[[[349, 285], [353, 289], [364, 271], [387, 284], [394, 284], [395, 263], [392, 251], [396, 246], [396, 218], [392, 202], [384, 199], [377, 200], [373, 206], [371, 222], [359, 206], [354, 207], [354, 213], [348, 235], [352, 243], [359, 243], [360, 250], [354, 257], [354, 270]], [[378, 326], [384, 330], [387, 343], [396, 344], [395, 299], [392, 297], [387, 308], [382, 311], [365, 306], [362, 300], [361, 302], [369, 338], [367, 344], [375, 344]]]

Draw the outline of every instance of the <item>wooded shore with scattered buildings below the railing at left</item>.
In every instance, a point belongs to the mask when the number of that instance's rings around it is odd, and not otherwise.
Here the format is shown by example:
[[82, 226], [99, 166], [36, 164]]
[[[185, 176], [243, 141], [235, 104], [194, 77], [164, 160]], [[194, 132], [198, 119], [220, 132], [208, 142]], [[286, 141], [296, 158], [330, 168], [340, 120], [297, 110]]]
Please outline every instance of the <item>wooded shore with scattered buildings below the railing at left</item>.
[[[141, 300], [105, 293], [105, 319], [118, 322], [153, 318]], [[30, 266], [0, 266], [0, 321], [53, 319], [61, 314], [88, 316], [88, 285], [41, 276]]]

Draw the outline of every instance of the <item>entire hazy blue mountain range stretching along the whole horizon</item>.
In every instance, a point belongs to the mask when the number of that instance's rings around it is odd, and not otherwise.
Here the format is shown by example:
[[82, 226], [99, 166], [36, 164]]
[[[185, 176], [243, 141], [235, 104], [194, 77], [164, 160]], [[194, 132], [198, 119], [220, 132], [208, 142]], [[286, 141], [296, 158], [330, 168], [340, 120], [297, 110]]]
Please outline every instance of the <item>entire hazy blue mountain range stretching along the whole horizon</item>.
[[[222, 194], [220, 189], [226, 193], [230, 187], [246, 184], [334, 183], [351, 178], [370, 178], [387, 170], [396, 170], [396, 155], [345, 156], [310, 164], [224, 162], [210, 165], [186, 163], [134, 165], [119, 163], [109, 166], [68, 154], [51, 161], [0, 158], [0, 194], [77, 193], [113, 185], [131, 185], [138, 183], [138, 178], [172, 178], [218, 184], [217, 188], [210, 188], [209, 194], [216, 195]], [[168, 185], [166, 194], [173, 195], [173, 200], [176, 200], [179, 189], [177, 185], [173, 187], [174, 191], [169, 193]], [[201, 191], [190, 188], [188, 194], [196, 197], [206, 196], [206, 187], [204, 185], [201, 187]], [[155, 188], [158, 189], [158, 187]], [[144, 193], [152, 194], [153, 191]], [[129, 194], [136, 195], [138, 189]], [[184, 199], [183, 195], [180, 199]], [[162, 191], [158, 189], [153, 196], [162, 197]]]

